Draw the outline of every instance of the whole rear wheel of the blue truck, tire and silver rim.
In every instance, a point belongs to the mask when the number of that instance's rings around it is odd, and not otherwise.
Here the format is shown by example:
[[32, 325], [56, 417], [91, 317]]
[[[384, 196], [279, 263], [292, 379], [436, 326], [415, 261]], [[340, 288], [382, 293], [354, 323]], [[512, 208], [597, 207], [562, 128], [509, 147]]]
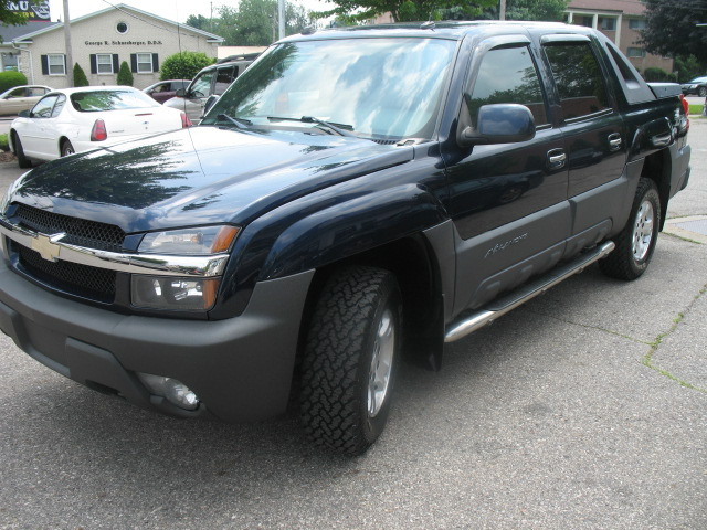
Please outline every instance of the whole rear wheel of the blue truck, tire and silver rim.
[[651, 179], [639, 181], [629, 222], [616, 237], [616, 247], [599, 262], [613, 278], [635, 279], [648, 267], [661, 226], [661, 197]]

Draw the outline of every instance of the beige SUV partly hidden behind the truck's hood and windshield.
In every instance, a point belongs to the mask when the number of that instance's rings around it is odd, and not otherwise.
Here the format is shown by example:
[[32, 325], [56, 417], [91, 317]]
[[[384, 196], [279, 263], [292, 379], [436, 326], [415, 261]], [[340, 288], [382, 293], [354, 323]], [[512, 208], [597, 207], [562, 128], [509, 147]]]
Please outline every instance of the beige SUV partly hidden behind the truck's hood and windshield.
[[232, 55], [199, 72], [187, 88], [177, 91], [177, 97], [165, 103], [166, 107], [187, 113], [193, 124], [201, 121], [209, 96], [220, 96], [231, 83], [257, 57], [257, 53]]

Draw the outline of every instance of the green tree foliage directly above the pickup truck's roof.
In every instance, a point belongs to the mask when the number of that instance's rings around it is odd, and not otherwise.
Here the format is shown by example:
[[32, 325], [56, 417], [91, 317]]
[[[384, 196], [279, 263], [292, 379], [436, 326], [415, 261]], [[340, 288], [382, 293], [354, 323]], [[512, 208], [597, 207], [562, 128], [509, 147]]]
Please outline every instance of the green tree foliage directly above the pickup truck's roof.
[[383, 13], [391, 13], [395, 22], [440, 20], [453, 11], [456, 19], [473, 19], [482, 14], [483, 8], [497, 3], [497, 0], [327, 0], [337, 7], [329, 11], [315, 13], [321, 17], [351, 17], [366, 20]]

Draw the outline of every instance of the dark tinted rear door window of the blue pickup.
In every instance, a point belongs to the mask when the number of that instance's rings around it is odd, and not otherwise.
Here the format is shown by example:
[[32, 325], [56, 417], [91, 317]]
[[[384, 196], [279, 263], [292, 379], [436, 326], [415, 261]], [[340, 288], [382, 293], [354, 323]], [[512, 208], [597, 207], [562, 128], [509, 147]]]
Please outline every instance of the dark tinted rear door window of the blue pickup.
[[601, 66], [588, 42], [559, 42], [544, 47], [563, 119], [581, 118], [609, 108]]

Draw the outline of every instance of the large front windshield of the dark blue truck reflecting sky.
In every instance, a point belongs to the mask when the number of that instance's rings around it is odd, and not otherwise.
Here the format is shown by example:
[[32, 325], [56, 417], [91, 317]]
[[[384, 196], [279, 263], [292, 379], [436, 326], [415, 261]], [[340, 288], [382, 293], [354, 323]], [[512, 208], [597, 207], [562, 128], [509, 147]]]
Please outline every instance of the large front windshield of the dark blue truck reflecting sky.
[[226, 115], [255, 128], [298, 127], [293, 120], [306, 116], [360, 137], [430, 138], [455, 46], [414, 38], [283, 43], [246, 70], [202, 124]]

